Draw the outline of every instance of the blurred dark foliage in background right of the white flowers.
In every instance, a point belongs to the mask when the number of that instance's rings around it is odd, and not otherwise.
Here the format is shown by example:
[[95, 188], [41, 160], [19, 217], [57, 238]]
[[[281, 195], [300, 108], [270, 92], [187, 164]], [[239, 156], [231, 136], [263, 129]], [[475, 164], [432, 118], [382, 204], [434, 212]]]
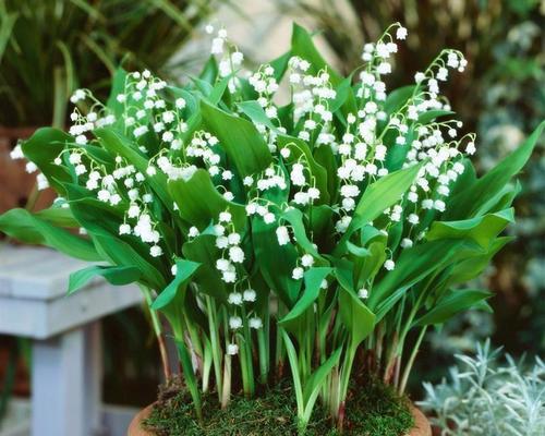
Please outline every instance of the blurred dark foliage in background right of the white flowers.
[[[405, 83], [444, 47], [461, 50], [463, 74], [452, 75], [448, 96], [467, 132], [477, 132], [476, 165], [491, 168], [545, 119], [545, 1], [543, 0], [278, 0], [289, 13], [314, 22], [344, 72], [361, 61], [364, 43], [399, 21], [409, 29], [388, 82]], [[521, 178], [517, 242], [497, 256], [486, 280], [497, 291], [495, 314], [460, 316], [432, 336], [424, 370], [452, 363], [452, 351], [468, 351], [494, 332], [512, 353], [545, 352], [545, 140]], [[494, 316], [494, 319], [487, 317]], [[437, 353], [437, 351], [439, 351]], [[441, 371], [439, 371], [441, 372]], [[416, 377], [415, 377], [416, 378]], [[434, 378], [434, 377], [432, 377]]]

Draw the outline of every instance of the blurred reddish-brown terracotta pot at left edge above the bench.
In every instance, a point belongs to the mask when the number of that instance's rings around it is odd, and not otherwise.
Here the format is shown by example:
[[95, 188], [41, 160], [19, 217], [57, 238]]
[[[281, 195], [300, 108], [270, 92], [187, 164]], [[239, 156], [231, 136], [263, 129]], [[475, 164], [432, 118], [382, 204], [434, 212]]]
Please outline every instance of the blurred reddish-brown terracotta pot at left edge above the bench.
[[[25, 159], [13, 160], [11, 150], [20, 140], [32, 136], [36, 128], [3, 128], [0, 126], [0, 214], [13, 208], [24, 207], [36, 183], [36, 174], [25, 171]], [[55, 193], [51, 190], [40, 192], [35, 209], [41, 209], [51, 204]]]

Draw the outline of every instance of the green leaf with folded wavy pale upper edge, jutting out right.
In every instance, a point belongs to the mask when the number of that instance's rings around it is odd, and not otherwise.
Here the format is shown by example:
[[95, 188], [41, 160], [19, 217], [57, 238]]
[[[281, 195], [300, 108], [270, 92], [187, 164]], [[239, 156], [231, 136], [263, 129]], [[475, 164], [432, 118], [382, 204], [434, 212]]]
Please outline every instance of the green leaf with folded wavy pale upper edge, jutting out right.
[[487, 250], [492, 241], [514, 221], [512, 208], [461, 221], [434, 221], [426, 233], [428, 241], [441, 239], [471, 239]]

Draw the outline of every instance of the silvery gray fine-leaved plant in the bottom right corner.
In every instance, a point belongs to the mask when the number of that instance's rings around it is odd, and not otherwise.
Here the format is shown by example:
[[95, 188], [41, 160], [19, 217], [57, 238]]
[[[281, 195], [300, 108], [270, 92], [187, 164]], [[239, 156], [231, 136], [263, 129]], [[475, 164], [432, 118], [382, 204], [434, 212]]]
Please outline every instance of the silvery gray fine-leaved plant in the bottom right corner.
[[419, 405], [436, 417], [441, 436], [538, 436], [545, 434], [545, 364], [528, 367], [491, 342], [477, 344], [475, 356], [457, 355], [449, 380], [425, 383]]

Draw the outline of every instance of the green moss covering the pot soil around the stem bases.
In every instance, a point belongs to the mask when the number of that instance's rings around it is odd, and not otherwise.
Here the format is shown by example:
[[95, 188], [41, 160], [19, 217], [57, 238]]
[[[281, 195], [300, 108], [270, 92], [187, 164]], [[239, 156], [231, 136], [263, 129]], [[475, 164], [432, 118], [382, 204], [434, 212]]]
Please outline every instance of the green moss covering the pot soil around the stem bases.
[[[204, 420], [196, 420], [191, 398], [184, 391], [160, 401], [145, 422], [157, 436], [258, 436], [296, 435], [296, 408], [291, 389], [277, 387], [252, 400], [233, 397], [227, 410], [219, 408], [217, 396], [203, 399]], [[347, 402], [343, 435], [400, 436], [413, 425], [404, 398], [380, 383], [368, 383], [352, 389]], [[331, 420], [316, 407], [307, 436], [335, 436]]]

